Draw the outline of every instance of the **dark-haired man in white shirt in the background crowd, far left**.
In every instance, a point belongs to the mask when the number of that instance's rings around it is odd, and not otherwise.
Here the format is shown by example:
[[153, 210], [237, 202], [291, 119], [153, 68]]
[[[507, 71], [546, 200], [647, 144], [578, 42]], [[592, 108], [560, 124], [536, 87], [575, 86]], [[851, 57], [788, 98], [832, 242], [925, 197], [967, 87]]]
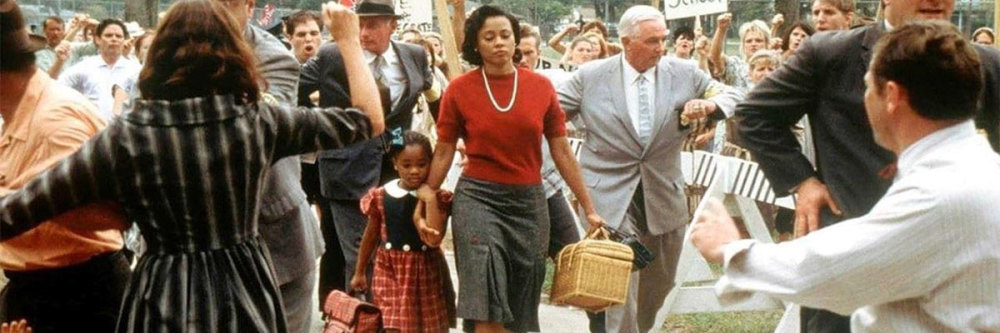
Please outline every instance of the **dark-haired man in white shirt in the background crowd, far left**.
[[59, 83], [79, 91], [97, 105], [98, 116], [105, 121], [117, 116], [114, 113], [112, 87], [121, 87], [131, 95], [142, 69], [135, 60], [123, 57], [123, 45], [129, 38], [125, 23], [106, 19], [97, 25], [98, 54], [84, 58], [59, 76]]

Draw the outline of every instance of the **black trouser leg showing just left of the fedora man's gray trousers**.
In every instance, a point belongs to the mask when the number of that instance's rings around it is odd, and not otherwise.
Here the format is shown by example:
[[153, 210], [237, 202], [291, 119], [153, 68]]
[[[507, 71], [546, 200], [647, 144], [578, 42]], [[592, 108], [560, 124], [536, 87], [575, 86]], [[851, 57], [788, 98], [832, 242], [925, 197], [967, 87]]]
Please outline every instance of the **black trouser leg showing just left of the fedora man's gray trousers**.
[[346, 291], [349, 280], [345, 278], [344, 252], [340, 248], [337, 228], [333, 225], [330, 202], [318, 198], [316, 204], [319, 205], [320, 229], [323, 231], [323, 242], [326, 243], [326, 252], [323, 252], [319, 260], [319, 307], [322, 310], [326, 295], [334, 290]]

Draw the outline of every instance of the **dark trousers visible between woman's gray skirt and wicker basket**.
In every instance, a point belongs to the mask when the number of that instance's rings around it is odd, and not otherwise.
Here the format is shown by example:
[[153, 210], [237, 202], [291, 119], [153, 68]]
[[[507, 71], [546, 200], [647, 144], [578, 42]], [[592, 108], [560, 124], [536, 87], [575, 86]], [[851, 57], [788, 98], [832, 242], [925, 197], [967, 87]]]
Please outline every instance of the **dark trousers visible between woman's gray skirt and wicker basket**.
[[[562, 191], [546, 200], [549, 206], [549, 258], [553, 261], [566, 245], [580, 241], [580, 233], [576, 230], [576, 220], [573, 219], [572, 208], [563, 196]], [[604, 312], [587, 312], [590, 320], [591, 333], [604, 333]]]

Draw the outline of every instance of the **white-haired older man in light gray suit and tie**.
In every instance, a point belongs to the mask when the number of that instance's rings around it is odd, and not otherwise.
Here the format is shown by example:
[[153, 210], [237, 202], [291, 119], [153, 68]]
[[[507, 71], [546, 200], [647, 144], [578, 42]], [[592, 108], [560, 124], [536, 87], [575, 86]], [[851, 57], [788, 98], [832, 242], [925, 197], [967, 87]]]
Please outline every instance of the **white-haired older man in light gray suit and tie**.
[[[655, 8], [629, 8], [618, 29], [622, 55], [584, 65], [558, 92], [567, 118], [586, 126], [580, 164], [598, 214], [637, 234], [656, 256], [632, 274], [626, 304], [607, 311], [608, 332], [635, 333], [652, 328], [673, 288], [690, 219], [680, 168], [688, 130], [679, 113], [721, 119], [742, 95], [692, 64], [661, 57], [667, 29]], [[701, 99], [710, 90], [718, 94]]]

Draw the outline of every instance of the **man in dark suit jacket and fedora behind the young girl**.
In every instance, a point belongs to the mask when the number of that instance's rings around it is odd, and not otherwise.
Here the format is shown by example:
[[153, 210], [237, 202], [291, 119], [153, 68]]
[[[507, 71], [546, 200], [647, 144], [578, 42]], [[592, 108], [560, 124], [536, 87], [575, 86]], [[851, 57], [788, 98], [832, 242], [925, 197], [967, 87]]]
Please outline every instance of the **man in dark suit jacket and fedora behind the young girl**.
[[[326, 243], [339, 242], [346, 267], [328, 265], [336, 262], [328, 251], [320, 262], [320, 297], [333, 289], [346, 287], [343, 282], [354, 274], [358, 245], [367, 219], [361, 215], [359, 200], [369, 189], [396, 177], [392, 162], [385, 154], [388, 133], [396, 128], [410, 128], [413, 108], [421, 94], [436, 110], [440, 95], [427, 54], [417, 45], [391, 41], [396, 30], [392, 0], [362, 0], [355, 5], [360, 17], [361, 46], [365, 60], [375, 76], [385, 110], [386, 135], [344, 149], [319, 154], [320, 191], [328, 202], [333, 225], [323, 225]], [[316, 57], [302, 66], [299, 81], [299, 104], [311, 105], [309, 94], [319, 90], [319, 105], [350, 106], [347, 74], [337, 45], [320, 48]], [[436, 114], [436, 112], [432, 112]], [[337, 274], [344, 274], [337, 276]]]

